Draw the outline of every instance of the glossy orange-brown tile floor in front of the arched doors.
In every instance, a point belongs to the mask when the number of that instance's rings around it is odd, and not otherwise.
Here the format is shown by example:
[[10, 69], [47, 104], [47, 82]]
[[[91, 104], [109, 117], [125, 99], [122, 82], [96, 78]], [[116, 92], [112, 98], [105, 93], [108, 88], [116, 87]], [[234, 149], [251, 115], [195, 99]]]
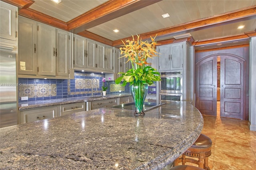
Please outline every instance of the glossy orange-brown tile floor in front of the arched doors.
[[218, 112], [203, 117], [202, 133], [212, 139], [210, 169], [256, 170], [256, 131], [249, 130], [248, 121], [222, 118]]

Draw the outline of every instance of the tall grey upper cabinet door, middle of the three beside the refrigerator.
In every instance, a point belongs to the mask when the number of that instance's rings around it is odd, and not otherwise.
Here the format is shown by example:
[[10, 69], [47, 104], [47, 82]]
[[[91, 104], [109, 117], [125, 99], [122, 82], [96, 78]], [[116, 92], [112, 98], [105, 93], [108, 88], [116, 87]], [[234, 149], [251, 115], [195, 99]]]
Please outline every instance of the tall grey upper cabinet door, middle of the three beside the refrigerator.
[[56, 75], [55, 28], [38, 23], [38, 75]]

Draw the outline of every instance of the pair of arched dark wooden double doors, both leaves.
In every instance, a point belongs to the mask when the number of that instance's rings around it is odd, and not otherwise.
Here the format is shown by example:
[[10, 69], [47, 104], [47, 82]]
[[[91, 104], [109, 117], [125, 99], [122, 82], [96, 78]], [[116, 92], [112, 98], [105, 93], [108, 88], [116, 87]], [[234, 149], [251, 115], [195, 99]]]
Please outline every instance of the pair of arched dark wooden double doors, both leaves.
[[[220, 117], [244, 119], [244, 60], [220, 55]], [[196, 108], [204, 115], [216, 116], [217, 56], [196, 63]]]

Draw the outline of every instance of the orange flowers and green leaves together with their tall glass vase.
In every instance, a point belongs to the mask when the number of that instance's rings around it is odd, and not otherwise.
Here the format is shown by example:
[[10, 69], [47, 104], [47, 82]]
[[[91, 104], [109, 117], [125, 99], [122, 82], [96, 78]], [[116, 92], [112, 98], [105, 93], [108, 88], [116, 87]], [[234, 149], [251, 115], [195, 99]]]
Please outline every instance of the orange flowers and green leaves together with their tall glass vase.
[[116, 79], [116, 84], [119, 84], [122, 80], [122, 86], [130, 83], [132, 97], [134, 99], [135, 112], [134, 115], [145, 115], [143, 111], [144, 101], [148, 93], [148, 85], [152, 85], [154, 81], [160, 81], [160, 73], [153, 67], [149, 66], [147, 62], [148, 57], [152, 58], [157, 55], [155, 46], [158, 45], [155, 42], [155, 38], [151, 38], [151, 43], [148, 40], [142, 41], [140, 36], [137, 35], [137, 40], [132, 36], [132, 41], [126, 40], [125, 44], [123, 41], [123, 47], [120, 47], [122, 57], [126, 57], [126, 62], [131, 62], [132, 68], [126, 73], [122, 74]]

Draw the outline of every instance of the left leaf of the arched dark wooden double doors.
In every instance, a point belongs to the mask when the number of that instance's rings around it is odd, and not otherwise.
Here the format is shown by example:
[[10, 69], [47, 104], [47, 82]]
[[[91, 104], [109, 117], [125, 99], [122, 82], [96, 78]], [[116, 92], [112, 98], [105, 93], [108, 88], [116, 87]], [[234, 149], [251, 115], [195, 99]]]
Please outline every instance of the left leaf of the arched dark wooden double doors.
[[196, 108], [204, 115], [216, 116], [217, 57], [196, 63]]

